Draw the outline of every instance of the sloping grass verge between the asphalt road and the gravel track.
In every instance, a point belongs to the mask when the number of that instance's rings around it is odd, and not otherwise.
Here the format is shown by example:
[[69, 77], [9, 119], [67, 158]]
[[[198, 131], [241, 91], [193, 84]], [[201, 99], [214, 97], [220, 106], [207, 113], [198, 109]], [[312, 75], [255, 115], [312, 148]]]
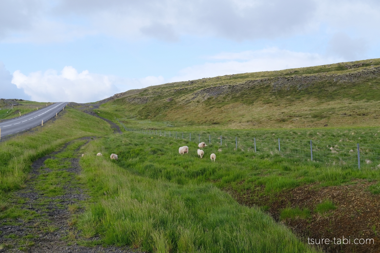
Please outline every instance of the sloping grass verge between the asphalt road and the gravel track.
[[[112, 130], [104, 120], [68, 108], [56, 120], [47, 122], [43, 127], [36, 127], [0, 142], [0, 209], [8, 206], [9, 191], [24, 186], [32, 161], [73, 139], [110, 133]], [[70, 152], [67, 151], [67, 157], [72, 155]]]

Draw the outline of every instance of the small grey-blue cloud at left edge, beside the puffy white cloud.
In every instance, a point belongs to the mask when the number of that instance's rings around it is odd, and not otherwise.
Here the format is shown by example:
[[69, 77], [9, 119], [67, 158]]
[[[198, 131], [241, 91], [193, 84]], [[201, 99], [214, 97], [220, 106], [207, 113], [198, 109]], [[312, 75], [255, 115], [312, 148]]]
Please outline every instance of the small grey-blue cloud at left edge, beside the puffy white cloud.
[[0, 62], [0, 98], [17, 98], [29, 100], [30, 96], [24, 93], [23, 89], [11, 83], [12, 75], [6, 70], [5, 65]]

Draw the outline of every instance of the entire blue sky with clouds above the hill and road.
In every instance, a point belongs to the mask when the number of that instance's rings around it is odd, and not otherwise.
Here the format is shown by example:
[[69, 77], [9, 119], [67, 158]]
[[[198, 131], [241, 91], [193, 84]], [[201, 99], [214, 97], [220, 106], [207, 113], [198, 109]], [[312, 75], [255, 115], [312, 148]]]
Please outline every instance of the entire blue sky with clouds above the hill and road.
[[380, 58], [378, 0], [2, 0], [0, 98]]

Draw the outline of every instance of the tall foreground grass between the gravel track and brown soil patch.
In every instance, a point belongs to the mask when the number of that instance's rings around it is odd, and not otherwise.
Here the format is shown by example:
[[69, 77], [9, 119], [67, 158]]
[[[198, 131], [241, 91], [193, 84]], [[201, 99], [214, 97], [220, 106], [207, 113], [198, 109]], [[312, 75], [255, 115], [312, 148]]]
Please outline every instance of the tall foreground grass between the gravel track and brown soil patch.
[[[153, 252], [313, 251], [260, 209], [240, 206], [211, 183], [186, 182], [184, 176], [183, 181], [174, 177], [173, 180], [161, 178], [165, 175], [162, 170], [169, 169], [170, 163], [160, 160], [154, 164], [162, 166], [161, 173], [154, 171], [152, 166], [145, 167], [146, 163], [142, 165], [146, 174], [134, 171], [132, 167], [138, 165], [140, 159], [140, 162], [151, 163], [149, 152], [160, 157], [165, 156], [165, 150], [160, 150], [158, 145], [152, 150], [149, 144], [142, 143], [138, 147], [138, 141], [148, 140], [142, 136], [129, 140], [131, 137], [130, 134], [112, 136], [106, 141], [92, 141], [84, 148], [85, 153], [92, 154], [81, 158], [82, 177], [89, 186], [92, 203], [78, 219], [83, 237], [101, 234], [99, 243], [130, 245]], [[108, 158], [108, 153], [114, 149], [105, 145], [119, 140], [123, 143], [119, 149], [135, 146], [135, 150], [131, 150], [133, 157], [123, 158], [134, 160], [135, 165], [120, 166], [119, 161]], [[161, 146], [171, 147], [162, 143]], [[104, 156], [95, 156], [102, 147], [106, 149]], [[175, 147], [177, 149], [177, 145]], [[177, 163], [185, 159], [178, 153], [176, 157]]]

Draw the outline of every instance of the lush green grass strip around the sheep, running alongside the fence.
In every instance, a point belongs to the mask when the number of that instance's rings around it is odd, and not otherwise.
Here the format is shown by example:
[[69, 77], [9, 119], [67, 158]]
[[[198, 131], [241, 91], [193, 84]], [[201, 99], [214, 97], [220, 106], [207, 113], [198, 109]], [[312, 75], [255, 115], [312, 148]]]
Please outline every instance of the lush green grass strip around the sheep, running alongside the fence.
[[[183, 145], [188, 145], [190, 151], [179, 155], [178, 148]], [[105, 138], [102, 147], [99, 152], [105, 157], [116, 153], [119, 166], [133, 174], [181, 185], [213, 182], [219, 188], [253, 190], [254, 193], [260, 188], [260, 193], [263, 189], [269, 194], [306, 183], [339, 185], [353, 179], [380, 179], [377, 167], [358, 170], [326, 166], [283, 157], [279, 153], [256, 157], [249, 152], [234, 150], [234, 147], [224, 147], [219, 152], [220, 146], [213, 144], [203, 149], [205, 155], [200, 159], [194, 142], [130, 132]], [[216, 154], [215, 163], [209, 158], [211, 153]]]

